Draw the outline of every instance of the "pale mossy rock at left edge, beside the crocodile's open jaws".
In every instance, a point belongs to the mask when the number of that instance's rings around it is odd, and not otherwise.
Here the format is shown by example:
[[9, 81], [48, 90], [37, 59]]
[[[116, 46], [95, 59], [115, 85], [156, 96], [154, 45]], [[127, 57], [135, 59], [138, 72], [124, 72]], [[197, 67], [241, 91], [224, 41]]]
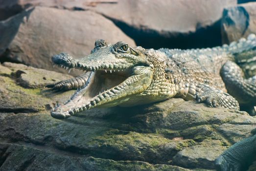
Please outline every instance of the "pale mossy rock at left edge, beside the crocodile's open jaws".
[[69, 99], [74, 91], [59, 94], [50, 90], [41, 91], [40, 88], [70, 78], [70, 75], [23, 64], [3, 63], [0, 65], [0, 111], [33, 113], [50, 109], [56, 101], [60, 103], [60, 99]]

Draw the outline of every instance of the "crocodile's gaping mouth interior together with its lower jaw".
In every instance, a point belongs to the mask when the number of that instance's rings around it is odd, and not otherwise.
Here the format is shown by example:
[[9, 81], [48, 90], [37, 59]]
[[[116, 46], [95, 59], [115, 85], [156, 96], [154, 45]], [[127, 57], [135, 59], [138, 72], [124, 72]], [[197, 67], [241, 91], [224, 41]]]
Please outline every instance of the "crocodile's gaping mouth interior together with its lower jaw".
[[86, 84], [79, 88], [64, 105], [55, 107], [51, 111], [51, 116], [65, 119], [93, 107], [116, 106], [113, 101], [121, 100], [126, 95], [123, 84], [126, 84], [125, 80], [131, 76], [131, 72], [132, 67], [122, 70], [104, 69], [87, 72]]

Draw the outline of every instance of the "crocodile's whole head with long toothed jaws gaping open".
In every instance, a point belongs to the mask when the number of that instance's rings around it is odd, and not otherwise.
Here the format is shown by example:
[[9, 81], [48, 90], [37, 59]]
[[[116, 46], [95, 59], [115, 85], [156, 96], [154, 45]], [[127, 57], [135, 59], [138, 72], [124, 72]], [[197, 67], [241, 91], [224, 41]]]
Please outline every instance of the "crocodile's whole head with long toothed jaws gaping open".
[[[87, 83], [65, 104], [55, 107], [51, 115], [64, 119], [93, 107], [132, 106], [132, 98], [145, 91], [152, 82], [153, 63], [142, 47], [129, 47], [97, 40], [91, 54], [73, 59], [62, 53], [52, 57], [54, 64], [88, 72]], [[133, 101], [133, 102], [131, 102]]]

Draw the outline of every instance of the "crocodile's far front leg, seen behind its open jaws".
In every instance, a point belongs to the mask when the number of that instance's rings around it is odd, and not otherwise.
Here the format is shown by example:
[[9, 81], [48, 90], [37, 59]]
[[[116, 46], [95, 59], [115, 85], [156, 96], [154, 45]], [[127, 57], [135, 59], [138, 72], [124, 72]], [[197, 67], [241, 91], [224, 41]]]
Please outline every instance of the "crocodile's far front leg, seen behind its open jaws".
[[60, 82], [46, 85], [46, 87], [52, 88], [53, 90], [65, 90], [65, 91], [70, 89], [77, 89], [85, 85], [86, 81], [88, 80], [89, 74], [90, 72], [87, 72], [77, 77], [71, 78], [69, 80], [63, 80]]

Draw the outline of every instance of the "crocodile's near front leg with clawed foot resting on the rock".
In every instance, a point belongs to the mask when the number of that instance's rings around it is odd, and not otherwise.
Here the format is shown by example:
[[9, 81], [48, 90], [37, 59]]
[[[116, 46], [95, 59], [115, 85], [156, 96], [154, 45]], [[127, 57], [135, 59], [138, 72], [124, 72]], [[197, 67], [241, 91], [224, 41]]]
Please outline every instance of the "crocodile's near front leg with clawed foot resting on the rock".
[[228, 93], [215, 89], [206, 84], [186, 84], [184, 88], [187, 91], [179, 91], [181, 97], [185, 100], [191, 100], [193, 97], [199, 103], [206, 103], [209, 107], [225, 107], [239, 110], [238, 102]]

